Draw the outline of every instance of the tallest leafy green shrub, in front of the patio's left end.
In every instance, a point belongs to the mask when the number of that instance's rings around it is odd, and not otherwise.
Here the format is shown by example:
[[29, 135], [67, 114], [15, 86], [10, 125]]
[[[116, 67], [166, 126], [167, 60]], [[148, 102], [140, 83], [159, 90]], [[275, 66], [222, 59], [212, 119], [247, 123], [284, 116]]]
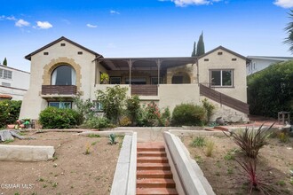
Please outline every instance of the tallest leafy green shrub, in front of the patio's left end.
[[105, 91], [96, 91], [97, 100], [103, 106], [107, 119], [115, 124], [118, 122], [118, 117], [123, 111], [126, 91], [127, 88], [120, 87], [119, 85], [115, 85], [115, 87], [107, 87]]

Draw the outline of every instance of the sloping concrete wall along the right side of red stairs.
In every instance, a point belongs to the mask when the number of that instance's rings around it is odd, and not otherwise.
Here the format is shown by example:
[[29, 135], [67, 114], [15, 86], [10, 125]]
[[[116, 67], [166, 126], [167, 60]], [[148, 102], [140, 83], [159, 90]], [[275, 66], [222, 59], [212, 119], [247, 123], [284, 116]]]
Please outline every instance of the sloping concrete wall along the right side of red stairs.
[[170, 159], [170, 167], [174, 174], [178, 194], [215, 194], [201, 168], [195, 160], [190, 158], [189, 152], [178, 136], [174, 136], [170, 132], [164, 132], [163, 138], [167, 154], [170, 155], [168, 159]]

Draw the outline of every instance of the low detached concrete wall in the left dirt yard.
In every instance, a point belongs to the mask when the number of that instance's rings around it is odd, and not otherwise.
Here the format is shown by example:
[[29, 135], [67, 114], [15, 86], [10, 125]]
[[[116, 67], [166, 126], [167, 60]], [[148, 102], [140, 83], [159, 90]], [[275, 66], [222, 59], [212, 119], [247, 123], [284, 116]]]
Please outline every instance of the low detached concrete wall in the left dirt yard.
[[55, 153], [53, 146], [3, 145], [0, 144], [0, 160], [43, 161], [51, 160]]

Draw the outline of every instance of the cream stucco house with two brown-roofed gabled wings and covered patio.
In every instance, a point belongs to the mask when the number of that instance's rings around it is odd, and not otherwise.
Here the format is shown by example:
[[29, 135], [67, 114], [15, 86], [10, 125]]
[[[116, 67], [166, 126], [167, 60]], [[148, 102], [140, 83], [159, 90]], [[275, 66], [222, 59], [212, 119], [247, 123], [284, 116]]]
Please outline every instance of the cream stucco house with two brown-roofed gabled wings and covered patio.
[[[214, 118], [248, 120], [246, 58], [222, 46], [199, 58], [104, 58], [60, 37], [25, 58], [31, 61], [31, 79], [20, 118], [37, 119], [47, 106], [70, 107], [77, 92], [94, 100], [96, 90], [119, 84], [142, 103], [172, 110], [208, 98], [217, 107]], [[102, 73], [109, 75], [108, 84], [99, 82]]]

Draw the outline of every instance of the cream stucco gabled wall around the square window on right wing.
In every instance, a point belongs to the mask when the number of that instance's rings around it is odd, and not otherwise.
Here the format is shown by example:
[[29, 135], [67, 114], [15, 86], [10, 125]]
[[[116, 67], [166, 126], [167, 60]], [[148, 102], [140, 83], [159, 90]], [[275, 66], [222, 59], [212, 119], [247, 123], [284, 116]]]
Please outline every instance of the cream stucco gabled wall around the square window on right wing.
[[[218, 55], [222, 52], [222, 55]], [[204, 61], [208, 58], [209, 61]], [[236, 58], [233, 61], [232, 58]], [[239, 58], [230, 52], [217, 50], [210, 53], [198, 61], [199, 66], [199, 82], [210, 82], [210, 69], [233, 69], [234, 70], [234, 87], [215, 88], [221, 93], [232, 98], [247, 102], [247, 84], [246, 84], [246, 60]]]

